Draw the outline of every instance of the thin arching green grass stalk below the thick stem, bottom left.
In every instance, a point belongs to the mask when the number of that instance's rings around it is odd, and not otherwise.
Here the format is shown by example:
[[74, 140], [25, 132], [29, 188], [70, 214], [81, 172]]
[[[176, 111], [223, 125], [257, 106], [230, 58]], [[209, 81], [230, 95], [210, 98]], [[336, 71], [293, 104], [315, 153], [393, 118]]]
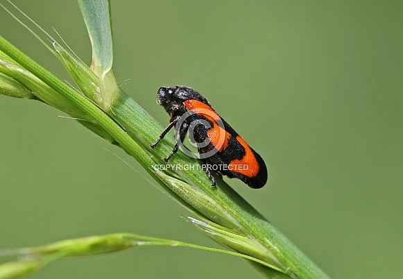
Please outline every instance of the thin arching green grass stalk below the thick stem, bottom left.
[[255, 264], [273, 269], [277, 273], [282, 274], [283, 277], [286, 276], [277, 267], [242, 253], [217, 248], [209, 248], [171, 239], [147, 237], [132, 233], [114, 233], [111, 235], [94, 235], [90, 237], [66, 239], [43, 246], [15, 248], [3, 251], [0, 250], [0, 256], [24, 256], [26, 258], [26, 260], [24, 260], [24, 257], [21, 257], [21, 260], [0, 264], [0, 279], [22, 277], [29, 273], [33, 273], [38, 269], [42, 269], [47, 264], [63, 257], [87, 257], [92, 255], [115, 253], [139, 246], [188, 247], [204, 251], [234, 255], [237, 257], [243, 257], [251, 262], [255, 262]]

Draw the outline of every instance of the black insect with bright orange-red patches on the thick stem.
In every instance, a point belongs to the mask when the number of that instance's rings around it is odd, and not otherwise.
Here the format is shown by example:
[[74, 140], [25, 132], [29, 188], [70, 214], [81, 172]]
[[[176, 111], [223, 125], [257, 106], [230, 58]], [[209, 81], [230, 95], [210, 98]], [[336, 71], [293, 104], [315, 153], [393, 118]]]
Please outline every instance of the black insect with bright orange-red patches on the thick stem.
[[199, 159], [212, 185], [216, 181], [210, 170], [230, 178], [239, 178], [252, 188], [261, 188], [266, 184], [264, 160], [196, 90], [182, 86], [161, 87], [157, 93], [157, 103], [169, 113], [171, 120], [151, 147], [155, 148], [175, 125], [180, 138], [180, 142], [177, 140], [172, 152], [164, 158], [165, 162], [178, 151], [190, 128], [189, 133], [192, 131], [193, 135], [189, 136], [198, 146]]

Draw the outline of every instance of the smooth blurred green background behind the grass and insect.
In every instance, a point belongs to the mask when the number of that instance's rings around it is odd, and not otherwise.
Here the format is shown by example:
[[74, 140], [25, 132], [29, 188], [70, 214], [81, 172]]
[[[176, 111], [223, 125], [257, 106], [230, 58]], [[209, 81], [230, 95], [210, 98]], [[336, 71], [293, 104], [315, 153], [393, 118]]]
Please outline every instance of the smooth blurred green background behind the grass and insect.
[[[75, 1], [14, 2], [90, 62]], [[230, 185], [330, 277], [401, 278], [402, 14], [402, 1], [112, 1], [114, 74], [162, 126], [161, 85], [201, 92], [268, 165], [266, 187]], [[4, 10], [0, 34], [71, 81]], [[218, 247], [135, 160], [58, 115], [0, 96], [0, 248], [117, 232]], [[170, 247], [31, 276], [246, 277], [260, 278], [237, 257]]]

